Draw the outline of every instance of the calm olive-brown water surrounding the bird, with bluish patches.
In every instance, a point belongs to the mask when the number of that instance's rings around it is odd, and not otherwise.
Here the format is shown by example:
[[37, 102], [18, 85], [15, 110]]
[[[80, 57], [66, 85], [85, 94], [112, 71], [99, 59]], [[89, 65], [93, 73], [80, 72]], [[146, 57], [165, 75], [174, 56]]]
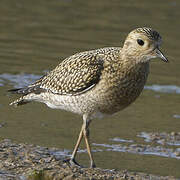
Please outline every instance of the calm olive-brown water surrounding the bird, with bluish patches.
[[[40, 103], [9, 107], [16, 96], [11, 97], [6, 91], [33, 82], [69, 55], [122, 46], [129, 31], [151, 26], [161, 33], [161, 49], [170, 63], [154, 59], [140, 98], [124, 111], [91, 124], [92, 143], [121, 144], [119, 147], [126, 151], [107, 151], [106, 147], [95, 145], [93, 150], [96, 164], [102, 168], [180, 177], [178, 158], [128, 151], [133, 144], [141, 148], [146, 145], [143, 138], [137, 137], [141, 132], [180, 131], [179, 6], [178, 1], [162, 3], [160, 0], [141, 3], [133, 0], [2, 0], [0, 138], [72, 150], [82, 123], [79, 116], [52, 110]], [[158, 146], [162, 151], [170, 149], [170, 154], [179, 148], [157, 143], [147, 152], [160, 151]], [[84, 152], [83, 145], [81, 151]], [[80, 153], [78, 158], [88, 165], [87, 153]]]

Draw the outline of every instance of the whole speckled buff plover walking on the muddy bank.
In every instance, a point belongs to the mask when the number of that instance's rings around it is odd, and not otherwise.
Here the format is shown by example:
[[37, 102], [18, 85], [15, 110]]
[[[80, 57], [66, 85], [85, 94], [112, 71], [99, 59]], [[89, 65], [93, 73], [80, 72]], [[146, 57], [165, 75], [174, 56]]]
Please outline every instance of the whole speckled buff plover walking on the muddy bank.
[[95, 168], [89, 138], [91, 121], [111, 116], [137, 99], [146, 83], [151, 59], [168, 62], [160, 50], [161, 44], [162, 37], [156, 30], [136, 28], [127, 35], [122, 48], [104, 47], [76, 53], [34, 83], [9, 90], [21, 95], [10, 105], [37, 101], [82, 116], [77, 143], [66, 162], [80, 166], [75, 157], [84, 137], [90, 168]]

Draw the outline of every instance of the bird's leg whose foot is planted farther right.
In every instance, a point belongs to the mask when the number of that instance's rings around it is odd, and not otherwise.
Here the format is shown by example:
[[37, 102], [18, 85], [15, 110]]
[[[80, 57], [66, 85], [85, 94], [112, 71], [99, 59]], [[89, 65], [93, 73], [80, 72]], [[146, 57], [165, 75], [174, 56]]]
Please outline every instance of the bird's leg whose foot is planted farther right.
[[84, 139], [85, 139], [85, 143], [86, 143], [86, 147], [87, 147], [87, 152], [90, 158], [90, 168], [95, 168], [96, 165], [94, 163], [94, 159], [91, 153], [91, 146], [89, 144], [89, 124], [90, 124], [90, 120], [88, 120], [87, 116], [83, 116], [83, 135], [84, 135]]

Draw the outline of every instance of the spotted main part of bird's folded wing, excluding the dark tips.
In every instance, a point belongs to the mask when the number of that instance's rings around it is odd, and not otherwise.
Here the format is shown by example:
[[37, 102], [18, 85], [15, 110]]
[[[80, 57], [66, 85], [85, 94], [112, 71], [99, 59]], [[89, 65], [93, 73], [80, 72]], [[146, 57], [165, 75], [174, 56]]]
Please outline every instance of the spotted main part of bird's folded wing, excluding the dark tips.
[[79, 53], [65, 59], [38, 84], [40, 88], [55, 94], [77, 95], [95, 86], [102, 70], [102, 56], [89, 52]]

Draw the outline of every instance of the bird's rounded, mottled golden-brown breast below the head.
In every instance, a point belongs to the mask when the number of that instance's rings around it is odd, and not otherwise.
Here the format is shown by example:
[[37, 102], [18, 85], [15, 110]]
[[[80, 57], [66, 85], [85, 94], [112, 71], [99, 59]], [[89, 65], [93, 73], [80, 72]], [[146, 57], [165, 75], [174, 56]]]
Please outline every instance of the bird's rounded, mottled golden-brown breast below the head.
[[100, 111], [113, 114], [134, 102], [144, 88], [148, 72], [149, 64], [141, 64], [129, 69], [111, 69], [111, 73], [102, 74], [104, 77], [97, 88], [102, 102]]

